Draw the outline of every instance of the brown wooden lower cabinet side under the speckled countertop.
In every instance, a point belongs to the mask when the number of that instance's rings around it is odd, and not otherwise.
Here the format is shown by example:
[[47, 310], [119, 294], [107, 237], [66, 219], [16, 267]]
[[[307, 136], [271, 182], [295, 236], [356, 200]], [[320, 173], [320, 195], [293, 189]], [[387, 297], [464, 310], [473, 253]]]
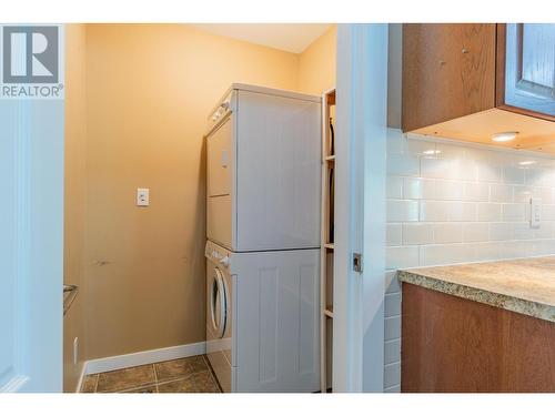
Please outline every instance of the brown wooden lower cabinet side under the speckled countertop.
[[402, 284], [401, 390], [555, 392], [555, 324]]

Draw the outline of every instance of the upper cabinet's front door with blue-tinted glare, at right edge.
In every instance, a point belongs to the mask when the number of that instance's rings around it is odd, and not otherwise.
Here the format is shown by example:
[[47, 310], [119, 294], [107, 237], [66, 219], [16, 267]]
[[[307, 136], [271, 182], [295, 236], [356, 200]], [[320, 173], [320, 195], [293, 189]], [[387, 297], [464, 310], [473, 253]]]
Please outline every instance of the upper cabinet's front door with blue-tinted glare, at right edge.
[[505, 105], [555, 118], [555, 24], [506, 24], [504, 88]]

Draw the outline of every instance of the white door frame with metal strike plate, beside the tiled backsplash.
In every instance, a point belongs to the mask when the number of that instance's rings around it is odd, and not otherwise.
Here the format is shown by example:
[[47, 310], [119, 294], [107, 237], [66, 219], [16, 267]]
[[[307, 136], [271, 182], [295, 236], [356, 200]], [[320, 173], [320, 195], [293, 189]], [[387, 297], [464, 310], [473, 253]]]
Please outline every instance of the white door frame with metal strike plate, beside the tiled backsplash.
[[333, 390], [382, 392], [386, 24], [339, 26], [336, 94]]

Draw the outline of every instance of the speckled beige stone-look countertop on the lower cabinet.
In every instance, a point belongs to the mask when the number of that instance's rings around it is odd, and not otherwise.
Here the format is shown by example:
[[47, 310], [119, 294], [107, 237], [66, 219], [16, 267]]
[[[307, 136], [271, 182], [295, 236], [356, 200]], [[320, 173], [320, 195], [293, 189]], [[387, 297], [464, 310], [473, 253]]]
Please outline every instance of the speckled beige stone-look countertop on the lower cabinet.
[[555, 256], [402, 270], [398, 280], [555, 322]]

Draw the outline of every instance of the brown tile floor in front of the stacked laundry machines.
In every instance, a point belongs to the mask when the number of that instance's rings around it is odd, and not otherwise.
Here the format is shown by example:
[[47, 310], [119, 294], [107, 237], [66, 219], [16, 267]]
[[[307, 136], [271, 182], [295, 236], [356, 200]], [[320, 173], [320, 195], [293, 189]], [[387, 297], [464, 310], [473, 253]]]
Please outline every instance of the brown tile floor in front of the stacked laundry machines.
[[81, 393], [221, 393], [204, 355], [84, 377]]

